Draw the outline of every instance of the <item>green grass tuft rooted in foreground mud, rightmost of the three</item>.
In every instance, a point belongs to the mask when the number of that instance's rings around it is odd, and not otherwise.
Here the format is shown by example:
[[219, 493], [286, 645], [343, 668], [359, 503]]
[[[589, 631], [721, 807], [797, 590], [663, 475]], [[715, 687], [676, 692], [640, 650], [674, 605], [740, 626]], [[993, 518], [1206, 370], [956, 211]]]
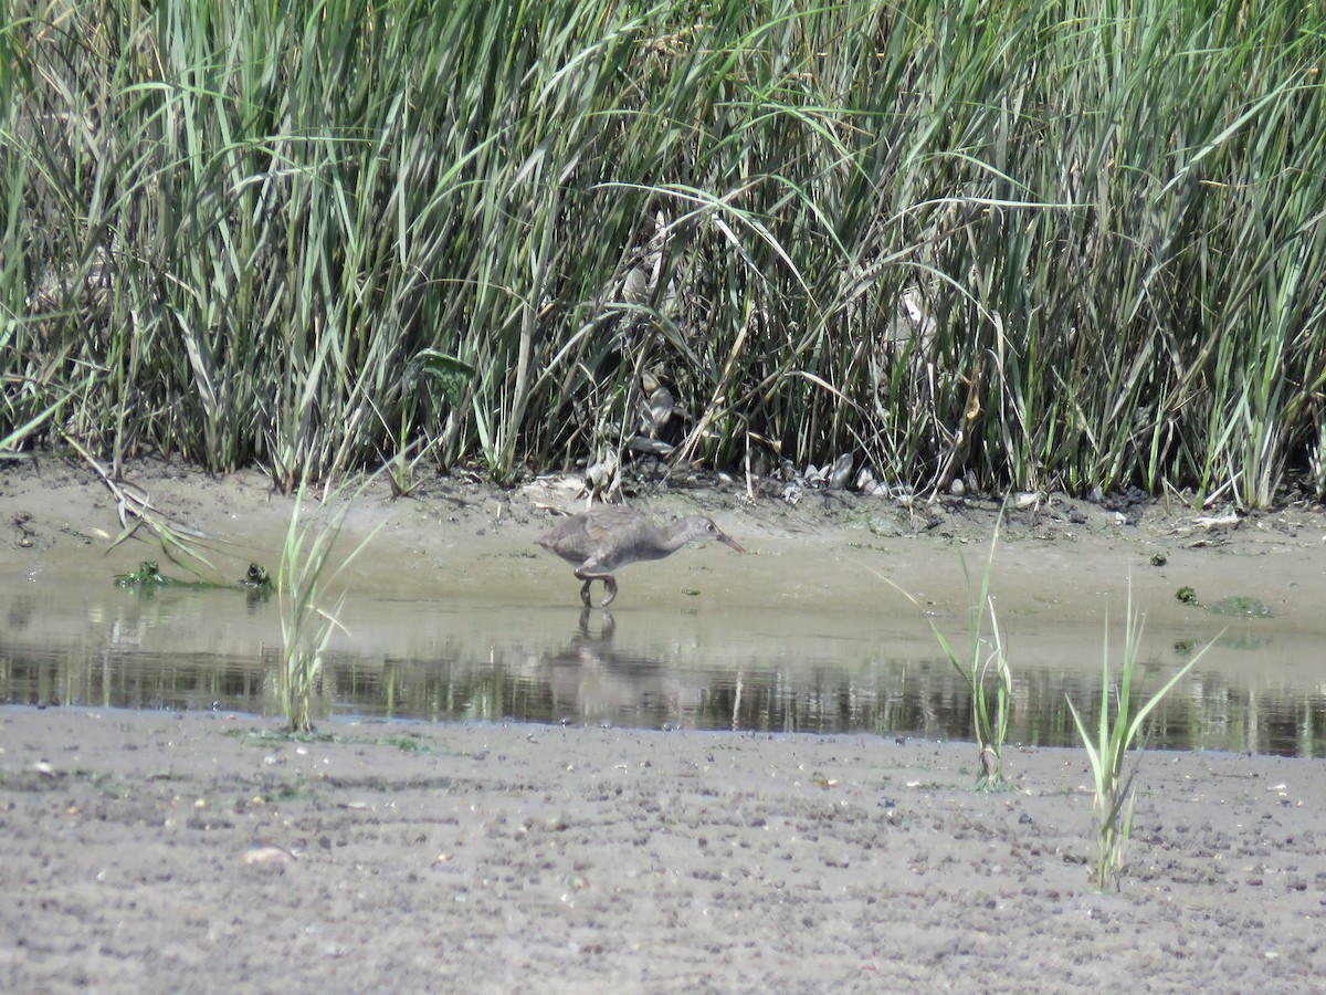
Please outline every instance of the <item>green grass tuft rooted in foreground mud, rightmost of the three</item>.
[[[1166, 695], [1187, 677], [1188, 671], [1205, 655], [1215, 641], [1207, 643], [1195, 657], [1179, 667], [1150, 698], [1134, 700], [1136, 687], [1138, 645], [1142, 641], [1143, 620], [1132, 610], [1132, 590], [1128, 589], [1128, 604], [1123, 628], [1123, 663], [1118, 673], [1118, 683], [1110, 679], [1110, 629], [1105, 629], [1102, 650], [1101, 703], [1095, 731], [1087, 728], [1073, 699], [1065, 695], [1078, 736], [1091, 763], [1093, 804], [1095, 821], [1094, 878], [1095, 886], [1105, 890], [1113, 880], [1115, 889], [1126, 869], [1126, 849], [1132, 834], [1132, 807], [1135, 801], [1134, 779], [1142, 764], [1147, 744], [1147, 719], [1164, 700]], [[1216, 637], [1220, 638], [1219, 635]]]

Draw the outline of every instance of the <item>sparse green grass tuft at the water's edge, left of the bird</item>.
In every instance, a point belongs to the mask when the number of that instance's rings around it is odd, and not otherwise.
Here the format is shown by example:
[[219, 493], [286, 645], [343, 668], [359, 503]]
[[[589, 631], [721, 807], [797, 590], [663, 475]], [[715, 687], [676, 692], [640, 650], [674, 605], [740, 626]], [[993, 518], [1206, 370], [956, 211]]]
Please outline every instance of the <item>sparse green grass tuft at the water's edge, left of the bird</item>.
[[367, 480], [355, 488], [337, 488], [325, 496], [308, 520], [301, 516], [308, 484], [301, 483], [294, 495], [277, 574], [282, 646], [277, 694], [292, 734], [313, 732], [313, 703], [322, 681], [322, 654], [337, 629], [346, 631], [338, 621], [346, 594], [342, 592], [334, 606], [328, 609], [324, 606], [328, 588], [378, 532], [373, 529], [345, 559], [334, 556], [346, 515], [366, 486]]

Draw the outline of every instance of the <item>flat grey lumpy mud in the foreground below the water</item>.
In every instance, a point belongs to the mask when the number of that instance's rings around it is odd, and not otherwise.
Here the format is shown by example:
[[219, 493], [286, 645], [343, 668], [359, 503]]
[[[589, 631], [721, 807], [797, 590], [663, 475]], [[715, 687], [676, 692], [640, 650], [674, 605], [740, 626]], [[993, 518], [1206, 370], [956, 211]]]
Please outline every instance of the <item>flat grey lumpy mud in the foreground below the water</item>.
[[0, 711], [5, 991], [1318, 991], [1311, 760]]

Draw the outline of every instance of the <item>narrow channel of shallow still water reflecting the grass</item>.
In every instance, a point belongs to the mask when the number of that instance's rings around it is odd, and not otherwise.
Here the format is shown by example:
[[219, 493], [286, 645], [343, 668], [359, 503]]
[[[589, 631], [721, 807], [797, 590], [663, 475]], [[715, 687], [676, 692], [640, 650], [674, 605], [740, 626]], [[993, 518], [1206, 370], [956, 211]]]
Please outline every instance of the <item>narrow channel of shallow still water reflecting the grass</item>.
[[[971, 739], [971, 695], [915, 616], [817, 610], [579, 612], [558, 604], [359, 601], [325, 657], [320, 714]], [[109, 584], [0, 594], [0, 702], [278, 714], [277, 602]], [[956, 647], [963, 621], [937, 620]], [[1144, 689], [1219, 631], [1147, 630]], [[1094, 712], [1103, 628], [1004, 620], [1009, 740], [1074, 742]], [[1122, 633], [1111, 633], [1118, 661]], [[1274, 620], [1223, 635], [1159, 712], [1154, 746], [1319, 756], [1326, 661]]]

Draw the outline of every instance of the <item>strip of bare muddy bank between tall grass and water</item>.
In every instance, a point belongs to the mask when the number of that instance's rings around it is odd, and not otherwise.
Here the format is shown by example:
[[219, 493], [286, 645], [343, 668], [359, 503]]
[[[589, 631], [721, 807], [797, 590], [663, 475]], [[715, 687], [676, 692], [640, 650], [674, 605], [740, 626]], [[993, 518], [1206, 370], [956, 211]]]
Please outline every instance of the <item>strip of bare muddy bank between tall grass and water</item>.
[[[562, 561], [533, 540], [557, 516], [585, 507], [581, 480], [550, 476], [500, 488], [476, 475], [422, 476], [407, 498], [378, 480], [346, 520], [346, 549], [378, 529], [370, 549], [347, 573], [353, 589], [446, 598], [483, 590], [495, 601], [578, 605], [578, 582]], [[126, 471], [126, 492], [150, 503], [150, 516], [196, 544], [216, 580], [241, 577], [253, 560], [274, 568], [292, 500], [267, 478], [244, 471], [216, 479], [195, 468], [139, 460]], [[1000, 512], [989, 499], [945, 498], [903, 505], [884, 498], [805, 490], [796, 503], [751, 500], [741, 482], [678, 480], [627, 499], [666, 519], [703, 511], [737, 536], [748, 556], [709, 547], [658, 566], [626, 568], [614, 609], [676, 598], [688, 581], [704, 581], [696, 604], [825, 605], [845, 612], [912, 610], [883, 582], [890, 577], [937, 617], [965, 617], [965, 559], [979, 577]], [[310, 516], [317, 500], [305, 504]], [[129, 515], [126, 519], [135, 519]], [[127, 572], [143, 559], [163, 559], [152, 531], [122, 532], [115, 496], [81, 460], [46, 458], [0, 468], [0, 568], [33, 584]], [[1238, 628], [1175, 594], [1192, 586], [1216, 604], [1253, 597], [1285, 631], [1326, 633], [1326, 508], [1297, 501], [1249, 516], [1228, 508], [1196, 509], [1177, 498], [1111, 509], [1061, 494], [1013, 501], [994, 559], [992, 589], [1010, 616], [1098, 622], [1122, 609], [1128, 586], [1160, 624]]]

